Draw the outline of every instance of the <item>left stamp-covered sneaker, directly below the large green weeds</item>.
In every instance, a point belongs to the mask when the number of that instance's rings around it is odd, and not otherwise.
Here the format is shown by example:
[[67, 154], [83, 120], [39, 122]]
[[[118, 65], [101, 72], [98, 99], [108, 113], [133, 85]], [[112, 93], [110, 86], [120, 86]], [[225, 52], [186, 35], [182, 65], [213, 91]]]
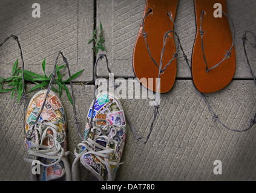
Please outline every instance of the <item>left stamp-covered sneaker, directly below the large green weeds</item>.
[[[41, 90], [31, 98], [25, 116], [25, 144], [29, 161], [40, 162], [40, 172], [33, 174], [31, 171], [31, 180], [71, 180], [70, 165], [66, 159], [67, 122], [64, 107], [51, 91], [41, 112], [46, 94], [47, 90]], [[41, 115], [33, 130], [39, 112]], [[31, 139], [28, 139], [30, 134]]]

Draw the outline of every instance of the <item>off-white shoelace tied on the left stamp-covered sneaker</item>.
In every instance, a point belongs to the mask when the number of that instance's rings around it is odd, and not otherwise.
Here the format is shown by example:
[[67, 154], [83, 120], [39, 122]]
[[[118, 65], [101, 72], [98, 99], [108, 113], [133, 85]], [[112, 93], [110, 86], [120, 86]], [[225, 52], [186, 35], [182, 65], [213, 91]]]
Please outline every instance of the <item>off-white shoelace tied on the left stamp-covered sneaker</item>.
[[[50, 122], [50, 120], [48, 119], [43, 119], [41, 122], [38, 122], [38, 125], [36, 127], [34, 127], [34, 132], [38, 131], [39, 133], [40, 144], [35, 144], [34, 142], [31, 142], [31, 147], [36, 148], [36, 150], [32, 150], [30, 148], [30, 150], [28, 151], [28, 156], [37, 156], [46, 159], [56, 160], [50, 164], [44, 164], [38, 160], [43, 166], [49, 167], [55, 165], [56, 163], [59, 163], [64, 156], [67, 156], [70, 153], [69, 151], [65, 152], [64, 148], [61, 147], [61, 144], [57, 142], [57, 138], [60, 134], [58, 132], [59, 127], [56, 126], [57, 123], [57, 121]], [[30, 125], [30, 122], [28, 123], [28, 125]], [[29, 127], [27, 133], [29, 133], [31, 130], [32, 127]], [[48, 130], [53, 131], [53, 134], [51, 135], [47, 133]], [[46, 137], [53, 139], [53, 145], [42, 145]], [[24, 160], [27, 162], [33, 162], [33, 159]]]

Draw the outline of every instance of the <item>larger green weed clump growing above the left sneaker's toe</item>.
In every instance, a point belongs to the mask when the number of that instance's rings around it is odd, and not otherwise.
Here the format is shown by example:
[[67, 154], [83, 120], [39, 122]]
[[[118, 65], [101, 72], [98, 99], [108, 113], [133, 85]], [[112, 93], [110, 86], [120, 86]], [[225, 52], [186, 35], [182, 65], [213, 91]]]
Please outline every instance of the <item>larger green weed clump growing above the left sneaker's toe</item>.
[[[21, 95], [22, 95], [22, 69], [17, 68], [18, 66], [18, 59], [13, 65], [12, 73], [10, 74], [11, 77], [9, 78], [2, 78], [0, 77], [0, 93], [1, 92], [11, 92], [11, 99], [13, 99], [15, 91], [18, 92], [18, 98], [17, 98], [17, 103], [19, 102]], [[73, 105], [73, 101], [71, 98], [70, 91], [68, 90], [67, 83], [70, 81], [70, 78], [67, 80], [62, 80], [63, 76], [66, 74], [61, 74], [61, 69], [64, 69], [66, 65], [61, 65], [57, 66], [56, 65], [56, 75], [57, 78], [54, 78], [54, 83], [58, 85], [58, 89], [54, 89], [54, 87], [51, 87], [52, 90], [55, 92], [59, 92], [59, 97], [62, 95], [62, 90], [65, 90], [68, 96], [68, 100], [70, 103]], [[44, 87], [48, 86], [51, 80], [51, 75], [50, 74], [48, 77], [45, 74], [45, 59], [42, 62], [42, 70], [44, 72], [44, 75], [36, 74], [31, 71], [24, 71], [24, 80], [26, 82], [30, 82], [33, 84], [36, 84], [33, 88], [31, 88], [28, 92], [32, 92], [33, 90], [36, 89], [44, 89]], [[82, 71], [77, 72], [76, 74], [71, 75], [71, 80], [74, 78], [78, 77], [82, 72], [84, 72], [84, 69]], [[1, 83], [8, 83], [8, 86], [11, 86], [11, 88], [8, 89], [2, 89], [2, 84]], [[25, 85], [24, 85], [25, 86]]]

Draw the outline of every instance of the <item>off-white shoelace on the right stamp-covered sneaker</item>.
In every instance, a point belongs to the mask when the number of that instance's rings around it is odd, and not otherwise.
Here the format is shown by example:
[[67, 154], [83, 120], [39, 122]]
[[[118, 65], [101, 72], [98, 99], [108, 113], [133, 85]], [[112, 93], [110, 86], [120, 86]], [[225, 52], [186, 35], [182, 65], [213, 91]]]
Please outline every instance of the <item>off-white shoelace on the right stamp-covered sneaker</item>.
[[[93, 119], [94, 121], [106, 121], [105, 119]], [[117, 144], [117, 141], [115, 141], [113, 138], [114, 136], [117, 136], [117, 130], [116, 128], [120, 129], [121, 125], [110, 125], [107, 124], [105, 125], [103, 128], [101, 127], [93, 127], [91, 129], [91, 131], [93, 132], [93, 134], [99, 133], [97, 134], [96, 137], [94, 137], [94, 139], [92, 140], [91, 138], [87, 138], [85, 141], [82, 141], [81, 143], [79, 143], [77, 145], [77, 148], [74, 150], [74, 155], [75, 156], [86, 156], [89, 154], [94, 154], [94, 156], [104, 165], [120, 165], [122, 163], [120, 162], [107, 162], [107, 159], [110, 158], [110, 156], [114, 156], [114, 152], [116, 150], [116, 147], [119, 145]], [[110, 138], [109, 136], [107, 136], [110, 132], [113, 132], [113, 136], [112, 138]], [[90, 133], [88, 133], [90, 134]], [[106, 145], [106, 147], [98, 144], [96, 141], [100, 138], [104, 138], [107, 143], [110, 142], [110, 144], [115, 144], [113, 148], [108, 148], [108, 144]], [[77, 150], [79, 153], [77, 153]], [[84, 150], [87, 150], [86, 153], [82, 153]], [[102, 159], [103, 158], [103, 159]], [[116, 154], [116, 158], [117, 160], [120, 160], [120, 157]]]

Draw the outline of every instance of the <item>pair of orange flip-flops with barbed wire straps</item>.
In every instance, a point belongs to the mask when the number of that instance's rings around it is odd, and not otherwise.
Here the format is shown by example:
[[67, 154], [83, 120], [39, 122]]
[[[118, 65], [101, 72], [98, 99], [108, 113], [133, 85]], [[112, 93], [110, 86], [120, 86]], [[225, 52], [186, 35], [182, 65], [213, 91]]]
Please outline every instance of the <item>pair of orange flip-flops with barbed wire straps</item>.
[[[140, 83], [154, 92], [168, 92], [176, 80], [177, 5], [178, 0], [146, 0], [134, 46], [133, 69], [136, 77], [144, 80]], [[222, 17], [214, 14], [215, 5], [221, 5]], [[227, 86], [235, 74], [234, 37], [226, 15], [226, 0], [194, 0], [194, 8], [197, 32], [191, 60], [192, 80], [200, 92], [216, 92]], [[148, 84], [150, 78], [153, 84]], [[157, 78], [161, 81], [159, 90]]]

